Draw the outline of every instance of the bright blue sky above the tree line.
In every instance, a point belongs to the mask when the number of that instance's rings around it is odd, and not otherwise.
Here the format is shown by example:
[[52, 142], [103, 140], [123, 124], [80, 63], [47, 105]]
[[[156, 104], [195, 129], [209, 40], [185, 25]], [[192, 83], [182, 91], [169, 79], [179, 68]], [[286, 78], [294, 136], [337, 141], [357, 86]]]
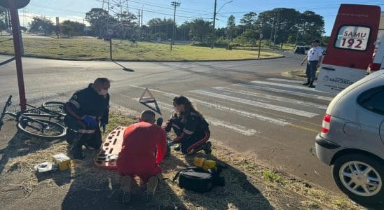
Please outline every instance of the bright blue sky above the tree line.
[[[203, 18], [212, 21], [214, 13], [214, 0], [109, 0], [111, 14], [120, 13], [120, 10], [129, 10], [137, 15], [138, 10], [143, 10], [143, 25], [152, 18], [173, 18], [174, 7], [172, 1], [177, 1], [180, 6], [176, 10], [177, 25]], [[85, 13], [91, 8], [108, 8], [108, 0], [31, 0], [30, 3], [19, 10], [20, 25], [27, 26], [34, 16], [46, 16], [55, 22], [55, 17], [60, 17], [60, 22], [73, 20], [83, 22]], [[217, 27], [226, 27], [230, 15], [235, 16], [236, 25], [239, 24], [242, 15], [249, 12], [261, 13], [273, 8], [294, 8], [301, 13], [312, 10], [322, 15], [325, 22], [325, 34], [329, 36], [334, 25], [336, 13], [341, 3], [356, 3], [378, 5], [384, 10], [384, 0], [217, 0]], [[120, 7], [119, 5], [122, 5]], [[89, 25], [84, 22], [85, 25]]]

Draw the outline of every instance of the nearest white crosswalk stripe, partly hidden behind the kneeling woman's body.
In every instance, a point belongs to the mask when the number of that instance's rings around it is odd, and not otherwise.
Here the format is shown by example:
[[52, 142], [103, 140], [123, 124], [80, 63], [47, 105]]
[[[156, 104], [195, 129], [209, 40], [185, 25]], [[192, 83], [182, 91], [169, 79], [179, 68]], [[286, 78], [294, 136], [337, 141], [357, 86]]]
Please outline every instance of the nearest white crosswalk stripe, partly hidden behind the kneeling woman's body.
[[[163, 106], [163, 109], [169, 111], [170, 113], [174, 113], [173, 106], [171, 104], [166, 104], [164, 102], [158, 102], [160, 106]], [[243, 134], [245, 136], [253, 136], [254, 134], [260, 134], [261, 132], [254, 130], [254, 129], [248, 129], [247, 127], [244, 127], [242, 125], [233, 125], [231, 123], [226, 123], [222, 120], [218, 120], [216, 118], [210, 118], [205, 117], [205, 120], [207, 120], [208, 123], [215, 126], [225, 127], [231, 130], [234, 130], [235, 132], [238, 132], [239, 134]]]

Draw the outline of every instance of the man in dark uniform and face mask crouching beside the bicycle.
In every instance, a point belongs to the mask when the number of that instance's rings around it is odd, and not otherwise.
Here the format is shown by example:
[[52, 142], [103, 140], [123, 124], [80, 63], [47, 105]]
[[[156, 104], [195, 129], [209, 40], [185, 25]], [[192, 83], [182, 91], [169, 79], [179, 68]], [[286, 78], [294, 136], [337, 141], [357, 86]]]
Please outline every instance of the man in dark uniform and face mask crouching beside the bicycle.
[[67, 142], [73, 144], [71, 155], [75, 159], [85, 158], [83, 145], [100, 149], [102, 134], [105, 132], [109, 116], [109, 94], [111, 84], [107, 78], [97, 78], [94, 83], [83, 90], [76, 91], [64, 110], [67, 116], [64, 124], [69, 127]]

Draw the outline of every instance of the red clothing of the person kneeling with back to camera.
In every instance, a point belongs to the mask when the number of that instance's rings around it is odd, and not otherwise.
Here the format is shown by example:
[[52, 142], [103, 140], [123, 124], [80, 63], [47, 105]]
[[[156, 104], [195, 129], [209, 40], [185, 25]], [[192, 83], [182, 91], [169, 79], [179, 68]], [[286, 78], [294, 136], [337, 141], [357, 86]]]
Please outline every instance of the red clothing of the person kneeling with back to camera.
[[158, 164], [166, 152], [167, 139], [161, 127], [146, 122], [132, 124], [124, 131], [123, 146], [116, 162], [118, 174], [144, 179], [155, 176], [161, 173]]

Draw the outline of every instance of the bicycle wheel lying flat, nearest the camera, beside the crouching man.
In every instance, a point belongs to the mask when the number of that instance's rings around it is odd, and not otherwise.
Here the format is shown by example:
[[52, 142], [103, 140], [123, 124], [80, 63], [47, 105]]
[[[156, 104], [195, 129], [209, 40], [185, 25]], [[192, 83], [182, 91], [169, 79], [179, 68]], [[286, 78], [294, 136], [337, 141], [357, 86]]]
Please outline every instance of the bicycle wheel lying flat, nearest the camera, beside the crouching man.
[[[34, 120], [38, 120], [36, 122]], [[60, 139], [67, 134], [67, 128], [50, 120], [34, 118], [20, 118], [18, 130], [30, 137], [40, 139]]]

